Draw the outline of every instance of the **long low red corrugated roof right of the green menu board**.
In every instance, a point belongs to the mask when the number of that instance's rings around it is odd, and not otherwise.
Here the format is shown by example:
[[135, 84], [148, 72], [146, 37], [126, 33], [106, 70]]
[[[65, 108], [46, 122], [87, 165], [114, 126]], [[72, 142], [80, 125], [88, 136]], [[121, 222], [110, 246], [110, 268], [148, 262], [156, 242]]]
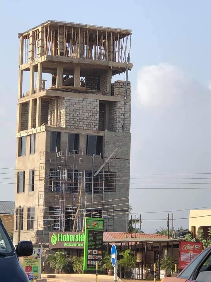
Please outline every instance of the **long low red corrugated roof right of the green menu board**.
[[[141, 236], [139, 237], [139, 234], [136, 234], [136, 238], [146, 238], [146, 239], [167, 239], [168, 237], [166, 235], [160, 235], [160, 234], [146, 234], [141, 233]], [[115, 239], [125, 239], [126, 233], [125, 232], [104, 232], [103, 233], [103, 241], [111, 241]], [[135, 233], [132, 233], [132, 237], [130, 233], [127, 233], [127, 238], [135, 238]]]

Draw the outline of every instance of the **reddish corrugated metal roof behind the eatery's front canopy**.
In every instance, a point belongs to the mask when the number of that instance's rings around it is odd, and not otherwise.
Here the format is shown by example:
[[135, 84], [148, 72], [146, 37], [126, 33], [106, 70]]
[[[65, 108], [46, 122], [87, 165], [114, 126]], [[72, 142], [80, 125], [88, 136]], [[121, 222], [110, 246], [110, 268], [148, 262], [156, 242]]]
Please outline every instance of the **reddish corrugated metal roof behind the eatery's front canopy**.
[[135, 238], [135, 233], [132, 233], [132, 236], [130, 233], [127, 233], [127, 238], [126, 238], [126, 233], [125, 232], [104, 232], [103, 233], [103, 241], [104, 242], [128, 242], [131, 241], [131, 238], [134, 238], [134, 241], [166, 241], [168, 240], [168, 237], [165, 235], [160, 235], [160, 234], [146, 234], [146, 233], [141, 233], [140, 238], [139, 238], [139, 233], [136, 234]]

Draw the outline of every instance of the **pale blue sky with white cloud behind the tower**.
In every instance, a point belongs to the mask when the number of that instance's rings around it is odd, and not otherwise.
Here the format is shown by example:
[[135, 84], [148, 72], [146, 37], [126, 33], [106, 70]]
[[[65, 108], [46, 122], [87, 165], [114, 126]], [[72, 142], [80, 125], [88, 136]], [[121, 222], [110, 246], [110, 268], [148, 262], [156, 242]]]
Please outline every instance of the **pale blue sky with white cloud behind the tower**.
[[[132, 29], [132, 173], [210, 172], [210, 11], [206, 0], [1, 1], [0, 167], [15, 166], [18, 32], [52, 19]], [[0, 199], [13, 200], [14, 185], [0, 185]], [[209, 205], [209, 190], [154, 191], [132, 190], [134, 212]], [[143, 221], [143, 230], [165, 224]], [[188, 221], [175, 225], [188, 227]]]

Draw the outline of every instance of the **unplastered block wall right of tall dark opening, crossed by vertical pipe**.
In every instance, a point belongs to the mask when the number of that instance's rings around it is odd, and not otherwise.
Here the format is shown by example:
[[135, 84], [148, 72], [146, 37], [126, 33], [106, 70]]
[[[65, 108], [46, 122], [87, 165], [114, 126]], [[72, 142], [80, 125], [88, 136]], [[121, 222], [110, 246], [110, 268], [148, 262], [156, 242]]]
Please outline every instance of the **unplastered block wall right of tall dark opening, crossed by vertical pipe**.
[[[131, 104], [125, 105], [125, 132], [130, 132]], [[124, 121], [124, 102], [110, 104], [109, 131], [122, 132]]]

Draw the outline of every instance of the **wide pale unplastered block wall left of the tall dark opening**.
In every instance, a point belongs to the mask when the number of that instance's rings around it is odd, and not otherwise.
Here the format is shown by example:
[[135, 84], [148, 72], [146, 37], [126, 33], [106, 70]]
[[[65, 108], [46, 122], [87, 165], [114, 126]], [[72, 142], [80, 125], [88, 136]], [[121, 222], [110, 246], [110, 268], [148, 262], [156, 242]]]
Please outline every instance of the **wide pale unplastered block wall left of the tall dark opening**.
[[58, 101], [61, 127], [98, 130], [99, 100], [65, 97]]

